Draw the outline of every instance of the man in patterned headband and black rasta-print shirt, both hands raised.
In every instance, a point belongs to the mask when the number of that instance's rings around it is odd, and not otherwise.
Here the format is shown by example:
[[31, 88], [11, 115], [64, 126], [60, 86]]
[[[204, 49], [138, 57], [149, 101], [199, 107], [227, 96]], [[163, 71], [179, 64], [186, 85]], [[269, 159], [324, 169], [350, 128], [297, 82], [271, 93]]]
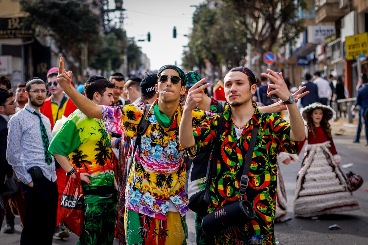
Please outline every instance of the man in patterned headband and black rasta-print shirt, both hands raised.
[[[282, 73], [277, 75], [270, 69], [267, 71], [271, 75], [262, 73], [262, 76], [275, 82], [269, 85], [268, 96], [271, 94], [279, 96], [287, 107], [290, 123], [277, 114], [259, 112], [256, 103], [251, 100], [258, 80], [250, 69], [244, 67], [231, 69], [224, 77], [224, 93], [228, 105], [222, 115], [193, 111], [202, 101], [204, 88], [209, 86], [207, 83], [199, 87], [204, 79], [192, 86], [184, 105], [179, 127], [181, 147], [188, 147], [192, 156], [211, 151], [212, 158], [216, 159], [213, 164], [217, 172], [213, 171], [214, 176], [209, 181], [212, 202], [209, 204], [208, 213], [241, 199], [248, 200], [255, 210], [254, 219], [245, 221], [244, 225], [234, 231], [216, 234], [211, 237], [211, 244], [275, 244], [273, 219], [276, 198], [276, 156], [282, 151], [296, 153], [297, 144], [294, 141], [304, 140], [305, 131], [295, 103], [296, 98], [287, 89]], [[222, 118], [226, 120], [226, 128], [221, 130], [222, 135], [216, 136], [216, 132], [219, 131], [217, 125]], [[254, 154], [250, 155], [252, 157], [250, 170], [246, 173], [249, 181], [244, 194], [240, 191], [243, 189], [240, 183], [243, 180], [249, 142], [254, 138], [251, 136], [253, 128], [255, 128], [255, 147]], [[214, 151], [215, 148], [219, 150]]]

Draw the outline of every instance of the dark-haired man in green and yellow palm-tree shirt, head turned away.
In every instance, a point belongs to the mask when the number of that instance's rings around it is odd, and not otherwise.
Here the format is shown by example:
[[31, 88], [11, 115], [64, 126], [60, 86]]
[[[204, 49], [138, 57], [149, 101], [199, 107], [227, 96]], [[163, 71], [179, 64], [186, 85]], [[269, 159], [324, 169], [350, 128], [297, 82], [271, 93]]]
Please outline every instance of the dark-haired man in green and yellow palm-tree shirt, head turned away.
[[[84, 86], [86, 97], [98, 105], [111, 105], [114, 84], [91, 76]], [[68, 117], [50, 143], [53, 154], [68, 176], [81, 172], [85, 203], [85, 228], [78, 244], [112, 244], [117, 195], [111, 160], [111, 139], [100, 119], [79, 109]]]

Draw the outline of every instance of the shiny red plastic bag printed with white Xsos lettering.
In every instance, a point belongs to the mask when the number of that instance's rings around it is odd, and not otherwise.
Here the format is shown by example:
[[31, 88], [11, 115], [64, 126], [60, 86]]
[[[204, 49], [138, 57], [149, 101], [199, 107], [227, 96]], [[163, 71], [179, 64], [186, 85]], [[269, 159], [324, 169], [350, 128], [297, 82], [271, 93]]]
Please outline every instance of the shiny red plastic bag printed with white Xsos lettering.
[[75, 172], [75, 179], [66, 179], [66, 187], [61, 196], [59, 226], [78, 237], [81, 236], [84, 224], [84, 195], [81, 175]]

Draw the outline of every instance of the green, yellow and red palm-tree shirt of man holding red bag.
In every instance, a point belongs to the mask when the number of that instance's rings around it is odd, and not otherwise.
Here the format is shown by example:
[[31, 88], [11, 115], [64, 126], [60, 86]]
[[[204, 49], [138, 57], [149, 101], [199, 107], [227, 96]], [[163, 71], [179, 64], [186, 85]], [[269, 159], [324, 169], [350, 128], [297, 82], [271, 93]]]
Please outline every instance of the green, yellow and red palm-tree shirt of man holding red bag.
[[75, 169], [91, 175], [91, 185], [82, 181], [85, 203], [114, 201], [111, 139], [102, 120], [77, 109], [51, 141], [49, 152], [68, 157]]

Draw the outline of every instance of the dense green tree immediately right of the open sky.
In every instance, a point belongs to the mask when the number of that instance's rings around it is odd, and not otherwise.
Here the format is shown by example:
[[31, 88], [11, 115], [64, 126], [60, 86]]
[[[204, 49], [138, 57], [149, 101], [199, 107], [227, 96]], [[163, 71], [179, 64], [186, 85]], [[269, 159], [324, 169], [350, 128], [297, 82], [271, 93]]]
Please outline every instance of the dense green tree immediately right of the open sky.
[[212, 70], [221, 76], [221, 65], [229, 68], [238, 66], [244, 59], [246, 44], [230, 16], [225, 3], [216, 8], [209, 8], [207, 4], [197, 8], [193, 15], [189, 51], [185, 52], [183, 59], [187, 69], [192, 69], [195, 64], [203, 70], [208, 61]]

